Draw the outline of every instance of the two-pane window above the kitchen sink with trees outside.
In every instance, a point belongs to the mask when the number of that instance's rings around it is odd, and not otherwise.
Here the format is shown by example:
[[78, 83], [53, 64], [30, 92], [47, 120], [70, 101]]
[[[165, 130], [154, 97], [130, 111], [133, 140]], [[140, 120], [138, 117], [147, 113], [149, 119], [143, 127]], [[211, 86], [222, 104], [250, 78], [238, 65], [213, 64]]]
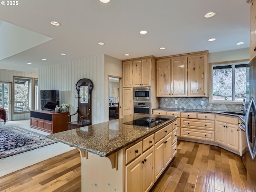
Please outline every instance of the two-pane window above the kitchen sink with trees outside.
[[211, 102], [241, 102], [246, 97], [247, 64], [248, 62], [212, 64]]

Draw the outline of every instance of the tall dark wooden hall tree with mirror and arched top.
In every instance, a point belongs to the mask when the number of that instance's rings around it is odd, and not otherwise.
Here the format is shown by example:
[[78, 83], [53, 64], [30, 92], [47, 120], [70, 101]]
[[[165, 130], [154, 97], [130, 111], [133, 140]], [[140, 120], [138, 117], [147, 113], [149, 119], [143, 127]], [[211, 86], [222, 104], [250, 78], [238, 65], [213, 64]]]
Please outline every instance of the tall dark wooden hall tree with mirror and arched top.
[[[81, 98], [80, 88], [82, 86], [88, 86], [88, 100], [84, 101]], [[88, 126], [92, 124], [92, 114], [91, 114], [91, 91], [92, 82], [89, 79], [80, 79], [76, 83], [76, 90], [78, 94], [78, 107], [74, 114], [69, 115], [68, 129], [79, 128], [83, 126]], [[71, 122], [71, 116], [77, 115], [77, 121]]]

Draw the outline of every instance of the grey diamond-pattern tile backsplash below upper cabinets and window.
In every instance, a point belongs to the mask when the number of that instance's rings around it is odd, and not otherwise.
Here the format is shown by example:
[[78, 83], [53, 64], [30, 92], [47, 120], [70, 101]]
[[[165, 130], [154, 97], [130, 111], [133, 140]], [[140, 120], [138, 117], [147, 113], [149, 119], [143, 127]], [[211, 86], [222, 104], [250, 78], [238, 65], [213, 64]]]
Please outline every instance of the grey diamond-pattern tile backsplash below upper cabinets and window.
[[[175, 104], [178, 101], [178, 104]], [[201, 101], [204, 102], [201, 105]], [[161, 97], [159, 98], [159, 107], [163, 108], [183, 108], [183, 109], [204, 109], [204, 110], [225, 110], [240, 111], [242, 104], [212, 104], [209, 98], [197, 97]]]

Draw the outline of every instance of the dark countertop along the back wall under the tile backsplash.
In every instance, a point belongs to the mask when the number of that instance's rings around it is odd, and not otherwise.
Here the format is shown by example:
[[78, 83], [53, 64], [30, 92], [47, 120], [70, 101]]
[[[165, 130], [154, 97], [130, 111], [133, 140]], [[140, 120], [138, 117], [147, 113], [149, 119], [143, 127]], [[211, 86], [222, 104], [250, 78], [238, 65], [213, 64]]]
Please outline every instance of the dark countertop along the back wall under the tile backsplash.
[[[218, 111], [218, 110], [204, 110], [204, 109], [184, 109], [184, 108], [154, 108], [153, 110], [163, 110], [163, 111], [178, 111], [178, 112], [201, 112], [201, 113], [215, 113], [215, 114], [222, 114], [222, 115], [231, 115], [239, 117], [242, 121], [245, 120], [245, 115], [240, 114], [232, 114], [229, 113], [230, 111]], [[237, 112], [240, 113], [240, 112]], [[242, 113], [241, 113], [242, 114]]]

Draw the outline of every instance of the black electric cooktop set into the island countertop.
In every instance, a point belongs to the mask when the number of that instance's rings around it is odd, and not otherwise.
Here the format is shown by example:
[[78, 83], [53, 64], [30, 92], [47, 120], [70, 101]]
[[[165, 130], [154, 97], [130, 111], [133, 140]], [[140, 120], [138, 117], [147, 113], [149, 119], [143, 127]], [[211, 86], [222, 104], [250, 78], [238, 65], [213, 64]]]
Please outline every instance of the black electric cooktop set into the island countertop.
[[143, 127], [154, 127], [163, 122], [167, 121], [167, 118], [152, 118], [152, 117], [143, 117], [139, 119], [134, 119], [132, 121], [126, 122], [126, 125], [136, 125], [136, 126], [143, 126]]

